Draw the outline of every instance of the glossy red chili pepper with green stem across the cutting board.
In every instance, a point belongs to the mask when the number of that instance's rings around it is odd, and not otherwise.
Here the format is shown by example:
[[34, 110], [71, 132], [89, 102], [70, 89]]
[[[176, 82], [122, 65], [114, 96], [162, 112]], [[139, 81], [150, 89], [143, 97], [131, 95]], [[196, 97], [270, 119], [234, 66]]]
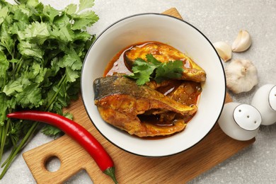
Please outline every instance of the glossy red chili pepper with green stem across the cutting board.
[[7, 115], [7, 117], [45, 122], [47, 124], [58, 127], [65, 134], [68, 134], [69, 137], [73, 138], [82, 147], [84, 147], [88, 154], [90, 154], [96, 161], [100, 170], [110, 176], [114, 183], [117, 183], [113, 160], [105, 151], [103, 146], [97, 141], [97, 139], [95, 139], [95, 137], [93, 137], [84, 127], [78, 123], [74, 122], [73, 120], [69, 120], [67, 117], [62, 115], [36, 110], [10, 113]]

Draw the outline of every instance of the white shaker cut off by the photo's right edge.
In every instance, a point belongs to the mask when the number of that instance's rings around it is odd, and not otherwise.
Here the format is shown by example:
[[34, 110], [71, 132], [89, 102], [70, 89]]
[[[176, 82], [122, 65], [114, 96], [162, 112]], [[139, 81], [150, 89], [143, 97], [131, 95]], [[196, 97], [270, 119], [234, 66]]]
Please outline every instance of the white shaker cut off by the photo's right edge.
[[251, 105], [262, 115], [262, 125], [272, 125], [276, 122], [276, 85], [265, 84], [256, 91]]

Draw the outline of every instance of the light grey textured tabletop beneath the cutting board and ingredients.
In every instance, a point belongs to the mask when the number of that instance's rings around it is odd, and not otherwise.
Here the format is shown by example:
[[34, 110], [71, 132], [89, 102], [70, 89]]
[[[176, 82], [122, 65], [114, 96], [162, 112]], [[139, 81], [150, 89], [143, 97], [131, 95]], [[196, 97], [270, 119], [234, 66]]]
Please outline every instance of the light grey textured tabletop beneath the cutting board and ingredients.
[[[77, 0], [44, 0], [54, 8], [64, 8]], [[264, 84], [276, 84], [276, 1], [273, 0], [96, 0], [93, 11], [100, 20], [89, 28], [98, 35], [108, 25], [135, 13], [166, 11], [175, 7], [185, 21], [195, 25], [211, 42], [231, 44], [238, 31], [248, 30], [253, 44], [247, 52], [234, 53], [233, 59], [250, 59], [258, 69], [259, 84], [252, 91], [235, 95], [238, 103], [251, 103], [255, 91]], [[224, 63], [226, 67], [228, 63]], [[276, 121], [276, 120], [275, 120]], [[37, 134], [24, 151], [52, 140]], [[20, 155], [0, 183], [35, 183]], [[92, 183], [83, 171], [67, 183]], [[276, 183], [276, 124], [261, 126], [256, 142], [230, 159], [198, 176], [190, 183]]]

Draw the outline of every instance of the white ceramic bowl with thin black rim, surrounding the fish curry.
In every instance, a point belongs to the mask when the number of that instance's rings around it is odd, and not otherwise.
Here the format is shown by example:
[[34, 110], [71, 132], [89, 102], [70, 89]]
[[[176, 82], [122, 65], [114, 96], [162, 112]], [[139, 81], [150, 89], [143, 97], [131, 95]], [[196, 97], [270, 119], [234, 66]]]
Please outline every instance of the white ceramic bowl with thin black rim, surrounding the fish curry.
[[[93, 81], [103, 76], [110, 59], [125, 47], [145, 41], [175, 47], [188, 54], [207, 73], [197, 114], [183, 132], [166, 139], [140, 139], [108, 125], [93, 102]], [[91, 45], [82, 69], [81, 93], [88, 116], [108, 141], [140, 156], [169, 156], [194, 146], [214, 127], [224, 105], [226, 81], [217, 52], [200, 30], [172, 16], [143, 13], [113, 23]]]

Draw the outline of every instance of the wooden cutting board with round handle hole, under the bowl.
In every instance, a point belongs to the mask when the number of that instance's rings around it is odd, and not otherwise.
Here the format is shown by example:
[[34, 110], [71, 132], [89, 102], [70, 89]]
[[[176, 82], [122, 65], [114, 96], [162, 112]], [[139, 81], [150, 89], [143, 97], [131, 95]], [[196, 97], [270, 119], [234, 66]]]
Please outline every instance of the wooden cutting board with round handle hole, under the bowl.
[[[176, 8], [163, 13], [181, 18]], [[228, 94], [225, 102], [231, 102]], [[186, 183], [255, 142], [255, 138], [246, 142], [231, 139], [216, 124], [205, 139], [188, 151], [161, 158], [136, 156], [117, 148], [96, 130], [86, 115], [81, 97], [66, 110], [103, 144], [115, 162], [119, 183]], [[50, 172], [45, 164], [53, 156], [59, 158], [61, 166], [58, 171]], [[23, 153], [23, 158], [37, 183], [63, 183], [81, 170], [86, 170], [93, 183], [113, 183], [67, 135]]]

